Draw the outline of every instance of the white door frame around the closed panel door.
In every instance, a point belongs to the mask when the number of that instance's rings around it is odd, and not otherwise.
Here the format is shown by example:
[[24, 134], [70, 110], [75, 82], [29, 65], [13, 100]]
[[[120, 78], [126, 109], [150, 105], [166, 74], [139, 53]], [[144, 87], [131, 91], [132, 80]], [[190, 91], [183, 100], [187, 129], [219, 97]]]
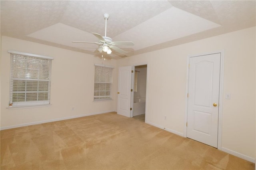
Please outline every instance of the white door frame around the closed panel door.
[[186, 123], [188, 121], [188, 80], [189, 80], [189, 61], [190, 57], [198, 57], [202, 55], [210, 55], [220, 53], [220, 91], [219, 91], [219, 115], [218, 115], [218, 144], [217, 148], [221, 150], [221, 141], [222, 141], [222, 107], [223, 107], [223, 84], [224, 84], [224, 53], [225, 50], [222, 49], [220, 51], [214, 51], [211, 53], [202, 53], [198, 55], [188, 55], [187, 59], [187, 79], [186, 79], [186, 106], [185, 106], [185, 120], [184, 120], [184, 137], [187, 137], [187, 126]]

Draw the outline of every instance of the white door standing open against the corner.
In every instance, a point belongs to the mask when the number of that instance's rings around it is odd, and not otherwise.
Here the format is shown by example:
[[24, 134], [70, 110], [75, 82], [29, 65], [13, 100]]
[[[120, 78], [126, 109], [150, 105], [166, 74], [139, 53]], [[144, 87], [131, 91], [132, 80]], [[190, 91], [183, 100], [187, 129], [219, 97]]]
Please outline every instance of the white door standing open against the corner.
[[132, 66], [119, 67], [117, 113], [130, 117]]

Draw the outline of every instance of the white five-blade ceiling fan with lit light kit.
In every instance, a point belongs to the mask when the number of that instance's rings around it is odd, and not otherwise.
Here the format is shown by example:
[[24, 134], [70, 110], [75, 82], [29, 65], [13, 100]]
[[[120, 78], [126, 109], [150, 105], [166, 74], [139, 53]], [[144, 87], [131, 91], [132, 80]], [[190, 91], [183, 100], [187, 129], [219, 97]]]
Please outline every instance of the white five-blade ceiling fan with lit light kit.
[[124, 51], [118, 47], [116, 47], [116, 45], [134, 45], [134, 42], [112, 42], [112, 39], [110, 37], [107, 37], [107, 20], [109, 18], [109, 14], [103, 14], [104, 16], [104, 20], [105, 20], [105, 36], [101, 36], [100, 34], [97, 33], [92, 33], [94, 36], [96, 36], [99, 39], [99, 42], [73, 42], [73, 43], [95, 43], [95, 44], [99, 44], [98, 49], [96, 49], [96, 51], [98, 50], [100, 53], [102, 53], [102, 51], [106, 52], [107, 54], [111, 54], [113, 49], [114, 51], [121, 53], [121, 54], [125, 54], [128, 51]]

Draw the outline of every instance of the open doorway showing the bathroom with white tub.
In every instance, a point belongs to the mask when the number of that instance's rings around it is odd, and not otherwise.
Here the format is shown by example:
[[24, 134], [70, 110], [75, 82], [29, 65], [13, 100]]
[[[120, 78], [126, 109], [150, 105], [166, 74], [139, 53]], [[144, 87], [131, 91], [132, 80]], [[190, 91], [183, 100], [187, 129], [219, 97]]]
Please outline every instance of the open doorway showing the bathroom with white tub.
[[134, 69], [133, 118], [145, 122], [147, 65]]

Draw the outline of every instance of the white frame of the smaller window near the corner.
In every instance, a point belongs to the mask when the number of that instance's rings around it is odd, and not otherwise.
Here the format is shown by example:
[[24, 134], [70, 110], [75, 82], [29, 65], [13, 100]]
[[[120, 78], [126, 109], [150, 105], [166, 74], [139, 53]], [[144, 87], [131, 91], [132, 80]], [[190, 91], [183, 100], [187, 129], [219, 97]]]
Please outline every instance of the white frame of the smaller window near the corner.
[[[103, 75], [96, 75], [96, 68], [106, 69], [106, 70], [108, 70], [108, 73], [106, 73], [105, 77], [102, 77]], [[114, 67], [109, 66], [109, 65], [94, 64], [94, 100], [93, 101], [112, 100], [113, 69], [114, 69]], [[109, 76], [109, 74], [110, 74], [111, 78], [107, 77], [107, 76]], [[96, 77], [96, 76], [98, 76], [98, 77]], [[104, 78], [105, 78], [105, 81], [102, 81]], [[98, 81], [96, 81], [96, 79]], [[97, 84], [97, 86], [96, 86], [96, 84]], [[105, 85], [105, 87], [103, 87], [102, 85]], [[106, 89], [108, 87], [109, 87], [109, 90]], [[102, 90], [102, 89], [104, 89], [104, 90]], [[105, 95], [102, 95], [101, 92], [105, 93]], [[106, 92], [107, 92], [107, 94], [106, 94]], [[96, 95], [96, 93], [98, 93], [98, 95]], [[109, 95], [108, 95], [108, 93], [109, 93]]]

